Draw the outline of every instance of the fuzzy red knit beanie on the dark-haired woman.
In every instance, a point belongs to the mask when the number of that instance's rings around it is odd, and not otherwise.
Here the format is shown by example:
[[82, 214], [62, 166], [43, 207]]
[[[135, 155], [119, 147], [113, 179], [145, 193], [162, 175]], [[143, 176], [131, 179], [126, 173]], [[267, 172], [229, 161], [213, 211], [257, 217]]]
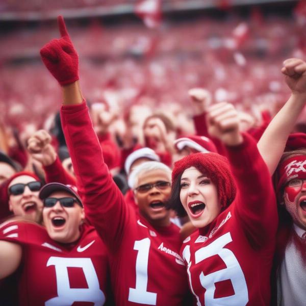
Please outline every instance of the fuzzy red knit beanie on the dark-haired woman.
[[236, 195], [236, 186], [230, 165], [225, 157], [217, 153], [195, 153], [184, 157], [174, 164], [172, 171], [172, 186], [178, 177], [190, 167], [195, 167], [207, 175], [216, 185], [221, 207], [230, 205]]

